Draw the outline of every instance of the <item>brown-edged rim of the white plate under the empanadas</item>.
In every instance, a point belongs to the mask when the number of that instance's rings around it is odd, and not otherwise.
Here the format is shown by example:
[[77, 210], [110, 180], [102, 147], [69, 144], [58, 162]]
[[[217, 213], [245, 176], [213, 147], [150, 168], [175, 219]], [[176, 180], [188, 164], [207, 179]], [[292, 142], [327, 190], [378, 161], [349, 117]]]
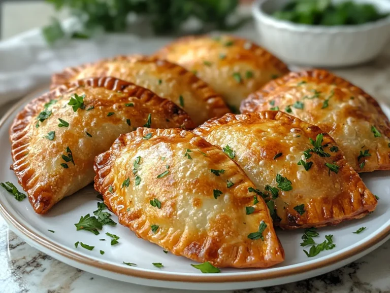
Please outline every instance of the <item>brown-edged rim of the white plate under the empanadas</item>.
[[[49, 88], [48, 84], [37, 88], [34, 91], [31, 91], [29, 94], [25, 95], [19, 101], [17, 101], [11, 108], [4, 114], [2, 119], [0, 119], [0, 128], [4, 127], [4, 124], [12, 114], [19, 108], [22, 104], [26, 103], [28, 100], [39, 96], [39, 93], [42, 93], [44, 90]], [[385, 104], [384, 102], [381, 102]], [[52, 242], [50, 239], [47, 239], [44, 235], [39, 235], [35, 233], [30, 228], [28, 228], [24, 223], [18, 221], [18, 219], [8, 210], [8, 208], [3, 204], [2, 199], [0, 198], [0, 213], [6, 219], [8, 224], [11, 224], [16, 228], [24, 237], [27, 237], [30, 241], [37, 243], [40, 246], [52, 251], [56, 255], [60, 255], [62, 258], [70, 259], [73, 262], [77, 262], [81, 265], [87, 267], [94, 267], [100, 270], [106, 270], [111, 273], [132, 276], [142, 279], [153, 279], [160, 281], [171, 281], [171, 282], [198, 282], [198, 283], [222, 283], [222, 282], [249, 282], [249, 281], [261, 281], [276, 279], [281, 277], [291, 277], [294, 275], [304, 274], [312, 270], [321, 269], [334, 265], [336, 263], [342, 262], [344, 260], [352, 258], [354, 255], [368, 250], [370, 247], [378, 244], [380, 241], [385, 239], [390, 235], [390, 224], [387, 224], [380, 233], [373, 236], [371, 239], [368, 239], [365, 242], [362, 242], [358, 246], [353, 247], [352, 249], [346, 249], [340, 254], [334, 256], [328, 255], [323, 260], [319, 261], [309, 261], [306, 265], [297, 266], [294, 268], [278, 268], [275, 271], [264, 272], [259, 270], [258, 272], [251, 274], [194, 274], [187, 275], [181, 273], [165, 273], [165, 272], [154, 272], [150, 274], [149, 271], [140, 270], [132, 267], [124, 267], [121, 264], [110, 264], [107, 262], [96, 261], [88, 255], [84, 255], [79, 252], [70, 250], [66, 246], [62, 246]]]

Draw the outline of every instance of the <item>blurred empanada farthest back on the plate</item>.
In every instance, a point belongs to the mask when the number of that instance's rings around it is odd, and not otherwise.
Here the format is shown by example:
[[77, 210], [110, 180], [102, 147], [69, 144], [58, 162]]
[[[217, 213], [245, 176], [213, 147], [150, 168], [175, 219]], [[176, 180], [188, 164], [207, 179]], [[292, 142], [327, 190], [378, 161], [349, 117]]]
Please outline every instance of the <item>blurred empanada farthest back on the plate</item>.
[[196, 72], [236, 111], [248, 94], [289, 72], [265, 49], [231, 35], [187, 36], [161, 49], [156, 56]]

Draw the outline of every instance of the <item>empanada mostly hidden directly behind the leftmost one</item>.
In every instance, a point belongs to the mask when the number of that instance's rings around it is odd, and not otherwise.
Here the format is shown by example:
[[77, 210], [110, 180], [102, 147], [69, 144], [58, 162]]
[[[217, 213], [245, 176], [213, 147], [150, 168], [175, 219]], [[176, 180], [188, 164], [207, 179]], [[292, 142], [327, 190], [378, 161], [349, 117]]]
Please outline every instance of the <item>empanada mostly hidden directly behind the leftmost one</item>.
[[208, 84], [183, 67], [140, 55], [117, 56], [93, 64], [70, 67], [52, 77], [52, 87], [88, 77], [111, 76], [147, 88], [179, 105], [200, 125], [229, 113], [229, 108]]

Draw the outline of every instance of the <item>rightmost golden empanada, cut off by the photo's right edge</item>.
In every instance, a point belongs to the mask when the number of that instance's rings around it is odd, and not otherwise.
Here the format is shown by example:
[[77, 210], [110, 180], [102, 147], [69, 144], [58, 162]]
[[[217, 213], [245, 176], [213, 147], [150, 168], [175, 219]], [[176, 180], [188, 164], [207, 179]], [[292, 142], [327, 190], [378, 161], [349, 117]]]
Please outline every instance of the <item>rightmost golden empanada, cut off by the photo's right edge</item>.
[[390, 169], [390, 124], [367, 93], [326, 70], [291, 72], [251, 94], [243, 113], [280, 109], [328, 132], [357, 172]]

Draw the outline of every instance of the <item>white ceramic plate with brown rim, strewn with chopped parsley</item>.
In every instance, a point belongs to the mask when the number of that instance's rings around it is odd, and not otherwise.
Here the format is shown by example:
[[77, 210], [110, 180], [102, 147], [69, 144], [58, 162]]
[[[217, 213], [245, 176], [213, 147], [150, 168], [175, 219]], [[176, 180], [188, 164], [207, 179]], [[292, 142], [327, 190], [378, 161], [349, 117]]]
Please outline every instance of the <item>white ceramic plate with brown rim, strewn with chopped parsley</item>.
[[[0, 181], [17, 179], [9, 169], [12, 163], [8, 129], [16, 113], [31, 98], [32, 94], [15, 105], [0, 122]], [[390, 117], [390, 108], [381, 105]], [[344, 266], [369, 253], [390, 237], [390, 172], [377, 171], [363, 174], [368, 188], [379, 196], [377, 209], [372, 214], [336, 227], [318, 229], [320, 237], [333, 234], [336, 247], [323, 251], [314, 258], [308, 258], [300, 246], [303, 230], [281, 231], [277, 234], [285, 250], [286, 259], [282, 264], [269, 269], [222, 269], [220, 274], [202, 274], [185, 258], [164, 253], [157, 245], [137, 238], [133, 232], [120, 225], [104, 226], [100, 235], [87, 231], [76, 231], [75, 223], [80, 216], [96, 210], [96, 195], [92, 185], [62, 200], [46, 215], [38, 215], [28, 200], [16, 201], [12, 195], [0, 188], [0, 211], [13, 231], [30, 245], [52, 257], [79, 269], [126, 282], [181, 289], [224, 290], [271, 286], [293, 282], [327, 273]], [[21, 188], [20, 188], [21, 190]], [[115, 222], [117, 218], [112, 216]], [[360, 227], [367, 227], [361, 234], [352, 234]], [[54, 230], [51, 233], [48, 230]], [[110, 245], [110, 232], [120, 237], [119, 244]], [[106, 239], [100, 241], [99, 239]], [[81, 241], [95, 246], [91, 251], [74, 243]], [[308, 248], [306, 248], [308, 249]], [[105, 254], [101, 255], [100, 250]], [[129, 267], [123, 262], [136, 263]], [[152, 263], [163, 263], [156, 268]]]

